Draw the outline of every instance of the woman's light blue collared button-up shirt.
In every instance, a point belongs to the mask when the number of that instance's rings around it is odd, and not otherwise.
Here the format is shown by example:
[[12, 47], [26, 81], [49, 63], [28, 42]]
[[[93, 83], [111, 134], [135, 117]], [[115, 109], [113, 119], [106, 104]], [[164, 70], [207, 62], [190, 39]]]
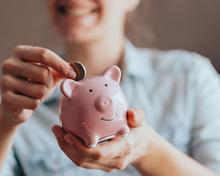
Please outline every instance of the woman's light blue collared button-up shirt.
[[[220, 79], [210, 62], [195, 53], [131, 43], [125, 62], [121, 86], [130, 107], [144, 110], [148, 124], [180, 151], [220, 172]], [[131, 165], [105, 173], [77, 167], [66, 157], [51, 132], [59, 123], [52, 108], [58, 95], [56, 89], [19, 129], [1, 175], [138, 176]]]

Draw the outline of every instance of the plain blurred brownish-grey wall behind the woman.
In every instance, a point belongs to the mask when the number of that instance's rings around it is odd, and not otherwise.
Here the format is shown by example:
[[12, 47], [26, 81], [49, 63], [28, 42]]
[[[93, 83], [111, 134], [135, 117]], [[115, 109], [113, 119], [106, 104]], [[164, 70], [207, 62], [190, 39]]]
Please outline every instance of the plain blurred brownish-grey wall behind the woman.
[[[46, 0], [0, 2], [0, 62], [18, 44], [61, 51]], [[220, 72], [219, 0], [142, 0], [129, 16], [127, 36], [138, 46], [186, 49], [209, 57]]]

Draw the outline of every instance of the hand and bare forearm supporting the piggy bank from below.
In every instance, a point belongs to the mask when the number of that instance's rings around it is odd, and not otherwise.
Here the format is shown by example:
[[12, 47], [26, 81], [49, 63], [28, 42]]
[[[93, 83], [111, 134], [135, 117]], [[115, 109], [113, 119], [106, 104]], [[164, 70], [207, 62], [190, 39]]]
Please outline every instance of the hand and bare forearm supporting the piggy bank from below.
[[54, 126], [53, 132], [61, 149], [80, 167], [112, 172], [133, 164], [143, 176], [217, 176], [149, 128], [141, 111], [129, 110], [127, 119], [131, 130], [126, 137], [118, 136], [96, 148], [86, 147], [80, 139], [65, 133], [59, 126]]

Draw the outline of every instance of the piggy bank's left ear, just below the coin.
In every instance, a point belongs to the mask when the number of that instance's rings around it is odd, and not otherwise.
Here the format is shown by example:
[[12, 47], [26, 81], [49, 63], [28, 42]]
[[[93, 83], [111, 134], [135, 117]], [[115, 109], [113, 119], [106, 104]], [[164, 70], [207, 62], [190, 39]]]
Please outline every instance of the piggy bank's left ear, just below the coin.
[[73, 81], [71, 79], [65, 79], [62, 81], [60, 85], [60, 90], [63, 93], [63, 95], [67, 98], [72, 97], [73, 90], [79, 85], [78, 82]]

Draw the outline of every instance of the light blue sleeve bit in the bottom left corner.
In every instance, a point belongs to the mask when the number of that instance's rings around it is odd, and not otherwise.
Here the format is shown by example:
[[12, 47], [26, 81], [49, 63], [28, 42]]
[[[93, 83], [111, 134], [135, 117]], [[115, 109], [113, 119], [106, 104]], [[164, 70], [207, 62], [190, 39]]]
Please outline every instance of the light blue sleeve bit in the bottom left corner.
[[19, 168], [17, 166], [17, 162], [14, 156], [13, 150], [11, 150], [8, 154], [6, 162], [3, 165], [2, 170], [0, 171], [0, 175], [2, 176], [18, 176]]

